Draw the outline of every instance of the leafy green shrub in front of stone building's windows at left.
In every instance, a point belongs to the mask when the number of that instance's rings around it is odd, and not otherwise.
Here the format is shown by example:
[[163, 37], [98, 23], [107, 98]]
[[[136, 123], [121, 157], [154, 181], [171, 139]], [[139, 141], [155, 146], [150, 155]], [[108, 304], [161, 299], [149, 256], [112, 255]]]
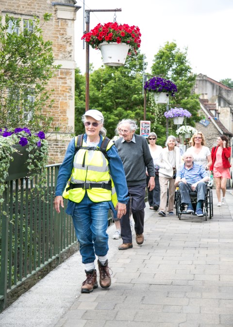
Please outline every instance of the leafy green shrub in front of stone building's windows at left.
[[[44, 23], [51, 15], [44, 15]], [[26, 25], [27, 24], [27, 25]], [[31, 28], [29, 28], [29, 26]], [[47, 84], [59, 66], [53, 64], [52, 42], [44, 41], [38, 18], [0, 17], [0, 127], [48, 131], [52, 105]]]

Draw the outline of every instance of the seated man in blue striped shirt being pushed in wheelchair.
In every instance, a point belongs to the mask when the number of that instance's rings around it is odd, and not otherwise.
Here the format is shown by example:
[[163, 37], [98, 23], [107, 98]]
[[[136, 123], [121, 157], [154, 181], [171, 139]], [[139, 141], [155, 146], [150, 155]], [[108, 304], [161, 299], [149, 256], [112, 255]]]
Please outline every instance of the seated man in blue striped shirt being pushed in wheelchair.
[[209, 181], [209, 176], [200, 164], [193, 162], [193, 155], [191, 153], [185, 152], [183, 155], [183, 161], [184, 164], [176, 173], [175, 186], [179, 185], [181, 203], [182, 206], [187, 204], [187, 214], [194, 213], [189, 193], [197, 193], [196, 215], [202, 217], [202, 203], [205, 200], [207, 187], [205, 182]]

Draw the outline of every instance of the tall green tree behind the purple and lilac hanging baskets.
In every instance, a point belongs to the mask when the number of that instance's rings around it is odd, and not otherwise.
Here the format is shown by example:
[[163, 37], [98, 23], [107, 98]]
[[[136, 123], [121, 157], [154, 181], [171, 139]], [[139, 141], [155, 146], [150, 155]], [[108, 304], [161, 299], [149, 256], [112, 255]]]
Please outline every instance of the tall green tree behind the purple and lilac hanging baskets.
[[[187, 59], [187, 48], [180, 50], [175, 42], [166, 42], [154, 56], [151, 67], [152, 75], [162, 75], [176, 84], [178, 92], [175, 97], [169, 98], [169, 108], [182, 107], [192, 113], [191, 118], [186, 119], [188, 125], [194, 126], [195, 121], [200, 120], [198, 110], [200, 109], [199, 96], [194, 94], [196, 75], [192, 73], [191, 66]], [[164, 112], [166, 105], [156, 105], [150, 94], [149, 113], [147, 118], [152, 121], [152, 130], [164, 145], [166, 140], [166, 118]], [[150, 116], [151, 115], [151, 116]], [[174, 126], [171, 119], [168, 120], [168, 134], [174, 134], [177, 126]], [[159, 143], [159, 142], [158, 142]]]

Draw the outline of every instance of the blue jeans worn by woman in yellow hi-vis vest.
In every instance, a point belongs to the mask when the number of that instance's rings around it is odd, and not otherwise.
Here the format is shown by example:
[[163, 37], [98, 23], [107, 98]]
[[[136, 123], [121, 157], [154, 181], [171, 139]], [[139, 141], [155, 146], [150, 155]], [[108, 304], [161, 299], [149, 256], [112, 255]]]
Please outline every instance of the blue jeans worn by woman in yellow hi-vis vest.
[[80, 243], [82, 262], [94, 262], [96, 255], [104, 256], [108, 253], [106, 231], [110, 204], [108, 201], [93, 202], [85, 194], [80, 203], [71, 202], [71, 206], [67, 208], [67, 214], [73, 218], [76, 236]]

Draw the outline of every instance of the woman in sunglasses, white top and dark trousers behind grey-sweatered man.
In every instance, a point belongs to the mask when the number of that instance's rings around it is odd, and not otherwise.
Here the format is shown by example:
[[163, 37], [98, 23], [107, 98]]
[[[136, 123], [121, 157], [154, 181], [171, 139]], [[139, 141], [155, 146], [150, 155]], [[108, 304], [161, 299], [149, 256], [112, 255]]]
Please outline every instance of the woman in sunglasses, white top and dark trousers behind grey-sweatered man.
[[[159, 209], [159, 205], [160, 205], [158, 160], [159, 160], [160, 154], [162, 153], [163, 148], [160, 145], [156, 145], [157, 135], [154, 132], [151, 132], [148, 135], [148, 140], [149, 140], [150, 154], [151, 154], [151, 157], [153, 158], [154, 169], [155, 169], [155, 178], [154, 178], [155, 187], [152, 191], [150, 191], [150, 189], [147, 188], [148, 189], [148, 202], [150, 205], [150, 209], [157, 211]], [[146, 174], [147, 174], [147, 185], [148, 185], [150, 177], [148, 175], [148, 172], [146, 172]]]

